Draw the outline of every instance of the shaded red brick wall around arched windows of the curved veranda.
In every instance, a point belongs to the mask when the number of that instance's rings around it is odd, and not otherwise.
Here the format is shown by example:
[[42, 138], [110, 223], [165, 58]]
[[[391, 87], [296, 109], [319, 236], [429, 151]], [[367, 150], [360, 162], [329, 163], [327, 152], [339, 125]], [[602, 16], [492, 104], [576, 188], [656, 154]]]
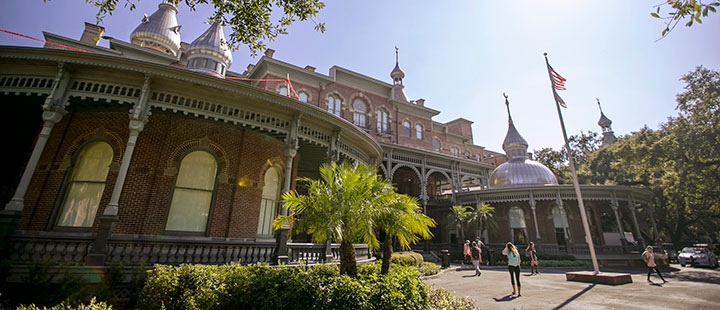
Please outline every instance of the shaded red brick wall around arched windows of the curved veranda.
[[[219, 162], [219, 181], [209, 215], [208, 235], [254, 238], [266, 163], [271, 160], [284, 173], [283, 144], [260, 133], [223, 123], [154, 112], [138, 137], [120, 197], [119, 221], [114, 232], [161, 234], [179, 160], [189, 150], [200, 148], [214, 153]], [[51, 214], [60, 206], [65, 176], [71, 172], [71, 169], [63, 168], [67, 166], [64, 158], [72, 158], [84, 141], [98, 136], [99, 127], [105, 129], [102, 138], [113, 146], [117, 162], [115, 169], [111, 168], [103, 192], [97, 213], [102, 214], [110, 200], [117, 164], [129, 135], [127, 113], [72, 113], [55, 126], [42, 154], [25, 198], [24, 227], [29, 230], [48, 227]], [[243, 177], [250, 180], [249, 184], [238, 186], [238, 180]]]

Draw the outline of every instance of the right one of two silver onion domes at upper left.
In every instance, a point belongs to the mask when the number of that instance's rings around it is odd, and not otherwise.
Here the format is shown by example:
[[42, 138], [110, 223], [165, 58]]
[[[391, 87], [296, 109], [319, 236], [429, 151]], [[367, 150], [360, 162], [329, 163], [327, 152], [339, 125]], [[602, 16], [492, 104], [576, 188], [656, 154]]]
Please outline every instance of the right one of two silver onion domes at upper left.
[[197, 72], [225, 76], [232, 64], [232, 53], [225, 41], [225, 33], [218, 22], [190, 43], [187, 68]]

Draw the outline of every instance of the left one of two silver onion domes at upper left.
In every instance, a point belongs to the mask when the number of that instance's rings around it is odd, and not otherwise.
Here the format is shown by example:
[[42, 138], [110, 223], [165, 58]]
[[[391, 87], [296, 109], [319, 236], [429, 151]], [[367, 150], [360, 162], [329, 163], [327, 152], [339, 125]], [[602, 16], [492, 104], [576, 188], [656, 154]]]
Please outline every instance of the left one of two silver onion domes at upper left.
[[130, 35], [130, 42], [177, 56], [181, 42], [177, 13], [177, 9], [171, 4], [161, 3], [155, 13], [143, 17], [140, 25]]

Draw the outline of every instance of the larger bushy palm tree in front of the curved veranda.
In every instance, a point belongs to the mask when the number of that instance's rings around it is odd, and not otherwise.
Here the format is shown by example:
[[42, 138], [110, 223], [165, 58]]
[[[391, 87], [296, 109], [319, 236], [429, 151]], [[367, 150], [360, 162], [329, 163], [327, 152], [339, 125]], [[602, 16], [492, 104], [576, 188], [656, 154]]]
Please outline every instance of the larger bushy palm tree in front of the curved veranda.
[[383, 203], [382, 195], [392, 186], [366, 165], [324, 164], [320, 180], [301, 178], [307, 195], [295, 191], [283, 194], [290, 216], [278, 216], [273, 227], [292, 225], [294, 231], [312, 234], [315, 242], [340, 240], [340, 273], [357, 276], [353, 243], [361, 241], [371, 249], [379, 247], [374, 216]]

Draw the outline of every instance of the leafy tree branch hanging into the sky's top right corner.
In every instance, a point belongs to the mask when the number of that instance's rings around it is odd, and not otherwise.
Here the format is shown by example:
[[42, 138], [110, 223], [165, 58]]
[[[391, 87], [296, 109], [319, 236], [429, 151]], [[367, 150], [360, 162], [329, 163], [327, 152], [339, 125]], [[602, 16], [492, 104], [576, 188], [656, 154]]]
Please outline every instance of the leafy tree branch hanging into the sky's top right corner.
[[[660, 10], [669, 6], [669, 12], [666, 16], [661, 16]], [[715, 7], [720, 6], [720, 2], [712, 1], [705, 4], [702, 0], [668, 0], [655, 6], [655, 12], [650, 13], [652, 17], [665, 20], [665, 29], [662, 31], [660, 39], [666, 37], [681, 20], [690, 18], [685, 23], [686, 27], [691, 27], [695, 22], [702, 24], [700, 17], [707, 17], [709, 13], [716, 13]]]

